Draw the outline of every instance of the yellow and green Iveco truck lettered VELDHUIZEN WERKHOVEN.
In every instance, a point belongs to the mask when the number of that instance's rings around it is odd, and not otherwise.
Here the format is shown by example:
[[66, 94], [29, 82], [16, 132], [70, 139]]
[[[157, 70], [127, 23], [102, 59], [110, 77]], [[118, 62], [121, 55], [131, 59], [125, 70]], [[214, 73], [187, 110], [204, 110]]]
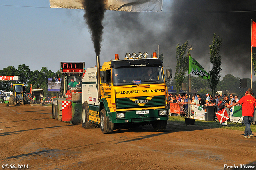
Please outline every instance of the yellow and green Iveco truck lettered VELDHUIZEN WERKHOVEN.
[[[97, 128], [112, 133], [114, 126], [152, 124], [155, 131], [166, 129], [168, 90], [162, 60], [153, 53], [127, 53], [88, 68], [82, 79], [83, 128]], [[99, 73], [99, 74], [98, 74]], [[171, 78], [171, 69], [166, 70]]]

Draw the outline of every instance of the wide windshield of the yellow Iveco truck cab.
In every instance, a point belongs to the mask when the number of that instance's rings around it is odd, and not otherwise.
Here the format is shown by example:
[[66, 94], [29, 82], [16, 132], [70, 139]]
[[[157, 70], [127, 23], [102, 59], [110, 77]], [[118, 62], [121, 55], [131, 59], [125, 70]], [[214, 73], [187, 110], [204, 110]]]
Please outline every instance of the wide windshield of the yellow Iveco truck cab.
[[113, 85], [164, 83], [162, 67], [113, 68]]

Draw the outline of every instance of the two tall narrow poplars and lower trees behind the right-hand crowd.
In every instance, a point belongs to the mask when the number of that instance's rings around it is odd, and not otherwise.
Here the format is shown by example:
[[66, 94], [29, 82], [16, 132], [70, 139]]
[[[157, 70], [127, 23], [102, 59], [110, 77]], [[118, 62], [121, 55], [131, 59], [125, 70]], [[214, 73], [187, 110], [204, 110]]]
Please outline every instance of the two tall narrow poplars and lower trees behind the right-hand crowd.
[[[244, 90], [240, 89], [240, 78], [234, 77], [232, 74], [225, 75], [221, 78], [221, 56], [220, 47], [222, 39], [214, 33], [212, 37], [212, 44], [209, 45], [209, 61], [212, 64], [212, 69], [209, 70], [210, 78], [208, 80], [202, 79], [199, 76], [191, 76], [191, 89], [196, 90], [198, 93], [215, 94], [216, 91], [222, 91], [225, 94], [236, 94], [240, 97], [244, 95]], [[187, 52], [188, 51], [188, 52]], [[170, 83], [174, 86], [175, 90], [179, 92], [182, 83], [188, 84], [188, 56], [191, 56], [190, 48], [188, 48], [188, 41], [184, 44], [177, 44], [176, 46], [176, 68], [174, 80]], [[254, 75], [256, 76], [256, 54], [252, 54], [252, 62], [254, 65]], [[250, 85], [250, 78], [247, 79], [248, 88]], [[252, 88], [256, 88], [256, 82], [252, 84]]]

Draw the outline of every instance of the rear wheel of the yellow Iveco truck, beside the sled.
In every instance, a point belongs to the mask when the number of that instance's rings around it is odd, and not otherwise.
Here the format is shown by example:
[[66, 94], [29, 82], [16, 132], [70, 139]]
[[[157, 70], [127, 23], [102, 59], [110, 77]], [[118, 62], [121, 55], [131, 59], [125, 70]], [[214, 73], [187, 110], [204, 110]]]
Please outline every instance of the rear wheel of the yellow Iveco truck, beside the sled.
[[81, 120], [82, 120], [82, 127], [85, 129], [91, 129], [91, 128], [98, 128], [99, 125], [94, 124], [92, 122], [89, 122], [89, 105], [87, 102], [84, 102], [82, 106], [82, 114], [81, 114]]

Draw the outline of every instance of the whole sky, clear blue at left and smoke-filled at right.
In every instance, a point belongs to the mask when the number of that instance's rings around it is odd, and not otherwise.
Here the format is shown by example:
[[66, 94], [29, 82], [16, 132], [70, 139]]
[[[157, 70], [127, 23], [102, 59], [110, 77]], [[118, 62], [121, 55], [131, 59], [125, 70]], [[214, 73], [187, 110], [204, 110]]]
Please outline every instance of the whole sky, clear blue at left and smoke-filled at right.
[[[222, 77], [250, 78], [255, 7], [254, 0], [164, 0], [162, 12], [106, 11], [100, 65], [115, 54], [120, 59], [127, 52], [152, 54], [159, 46], [174, 76], [176, 46], [188, 40], [191, 56], [208, 71], [216, 33], [222, 38]], [[84, 10], [50, 8], [48, 0], [0, 0], [0, 70], [25, 64], [32, 71], [47, 67], [56, 72], [62, 61], [94, 67], [96, 54], [83, 15]]]

